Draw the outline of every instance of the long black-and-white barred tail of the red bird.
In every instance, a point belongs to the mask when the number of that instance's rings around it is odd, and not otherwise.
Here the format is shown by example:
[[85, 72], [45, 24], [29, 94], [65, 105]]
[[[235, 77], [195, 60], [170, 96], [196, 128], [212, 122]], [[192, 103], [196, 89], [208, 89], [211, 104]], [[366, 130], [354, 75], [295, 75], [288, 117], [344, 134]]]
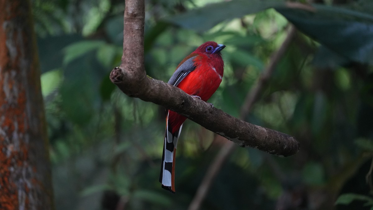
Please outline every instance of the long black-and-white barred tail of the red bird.
[[163, 155], [161, 164], [161, 173], [159, 176], [159, 182], [162, 183], [162, 188], [175, 193], [175, 155], [176, 146], [178, 144], [178, 139], [180, 136], [180, 128], [172, 132], [172, 127], [168, 121], [169, 112], [166, 112], [166, 132], [164, 134], [164, 145], [163, 145]]

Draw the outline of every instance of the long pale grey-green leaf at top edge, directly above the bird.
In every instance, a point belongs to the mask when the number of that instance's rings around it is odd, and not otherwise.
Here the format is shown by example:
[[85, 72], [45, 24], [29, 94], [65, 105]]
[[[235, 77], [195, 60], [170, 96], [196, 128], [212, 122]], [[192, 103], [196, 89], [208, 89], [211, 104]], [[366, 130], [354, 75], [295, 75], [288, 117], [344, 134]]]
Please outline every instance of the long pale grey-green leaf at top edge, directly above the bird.
[[285, 5], [283, 1], [223, 1], [169, 17], [166, 21], [202, 33], [227, 19], [239, 18], [270, 7], [283, 5]]

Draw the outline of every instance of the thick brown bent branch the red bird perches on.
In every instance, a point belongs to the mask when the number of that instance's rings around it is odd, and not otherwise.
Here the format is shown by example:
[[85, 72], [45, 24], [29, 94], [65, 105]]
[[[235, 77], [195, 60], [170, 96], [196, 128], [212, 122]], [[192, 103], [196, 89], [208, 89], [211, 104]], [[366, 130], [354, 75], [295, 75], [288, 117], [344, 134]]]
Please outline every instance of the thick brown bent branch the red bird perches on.
[[147, 77], [144, 68], [144, 16], [144, 1], [126, 0], [122, 64], [110, 74], [110, 80], [123, 93], [178, 112], [239, 146], [250, 146], [285, 157], [298, 152], [299, 143], [292, 136], [234, 118], [177, 87]]

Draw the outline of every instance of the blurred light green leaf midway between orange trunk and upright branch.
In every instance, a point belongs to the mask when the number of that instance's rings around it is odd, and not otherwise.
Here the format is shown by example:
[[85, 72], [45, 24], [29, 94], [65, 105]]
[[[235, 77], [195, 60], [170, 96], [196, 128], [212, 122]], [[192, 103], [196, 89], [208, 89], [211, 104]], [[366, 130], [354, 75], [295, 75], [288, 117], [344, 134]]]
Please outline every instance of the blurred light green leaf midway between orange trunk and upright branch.
[[65, 57], [63, 59], [63, 64], [68, 64], [79, 56], [84, 55], [92, 50], [97, 49], [98, 47], [104, 45], [104, 41], [98, 40], [85, 40], [72, 43], [65, 47]]

